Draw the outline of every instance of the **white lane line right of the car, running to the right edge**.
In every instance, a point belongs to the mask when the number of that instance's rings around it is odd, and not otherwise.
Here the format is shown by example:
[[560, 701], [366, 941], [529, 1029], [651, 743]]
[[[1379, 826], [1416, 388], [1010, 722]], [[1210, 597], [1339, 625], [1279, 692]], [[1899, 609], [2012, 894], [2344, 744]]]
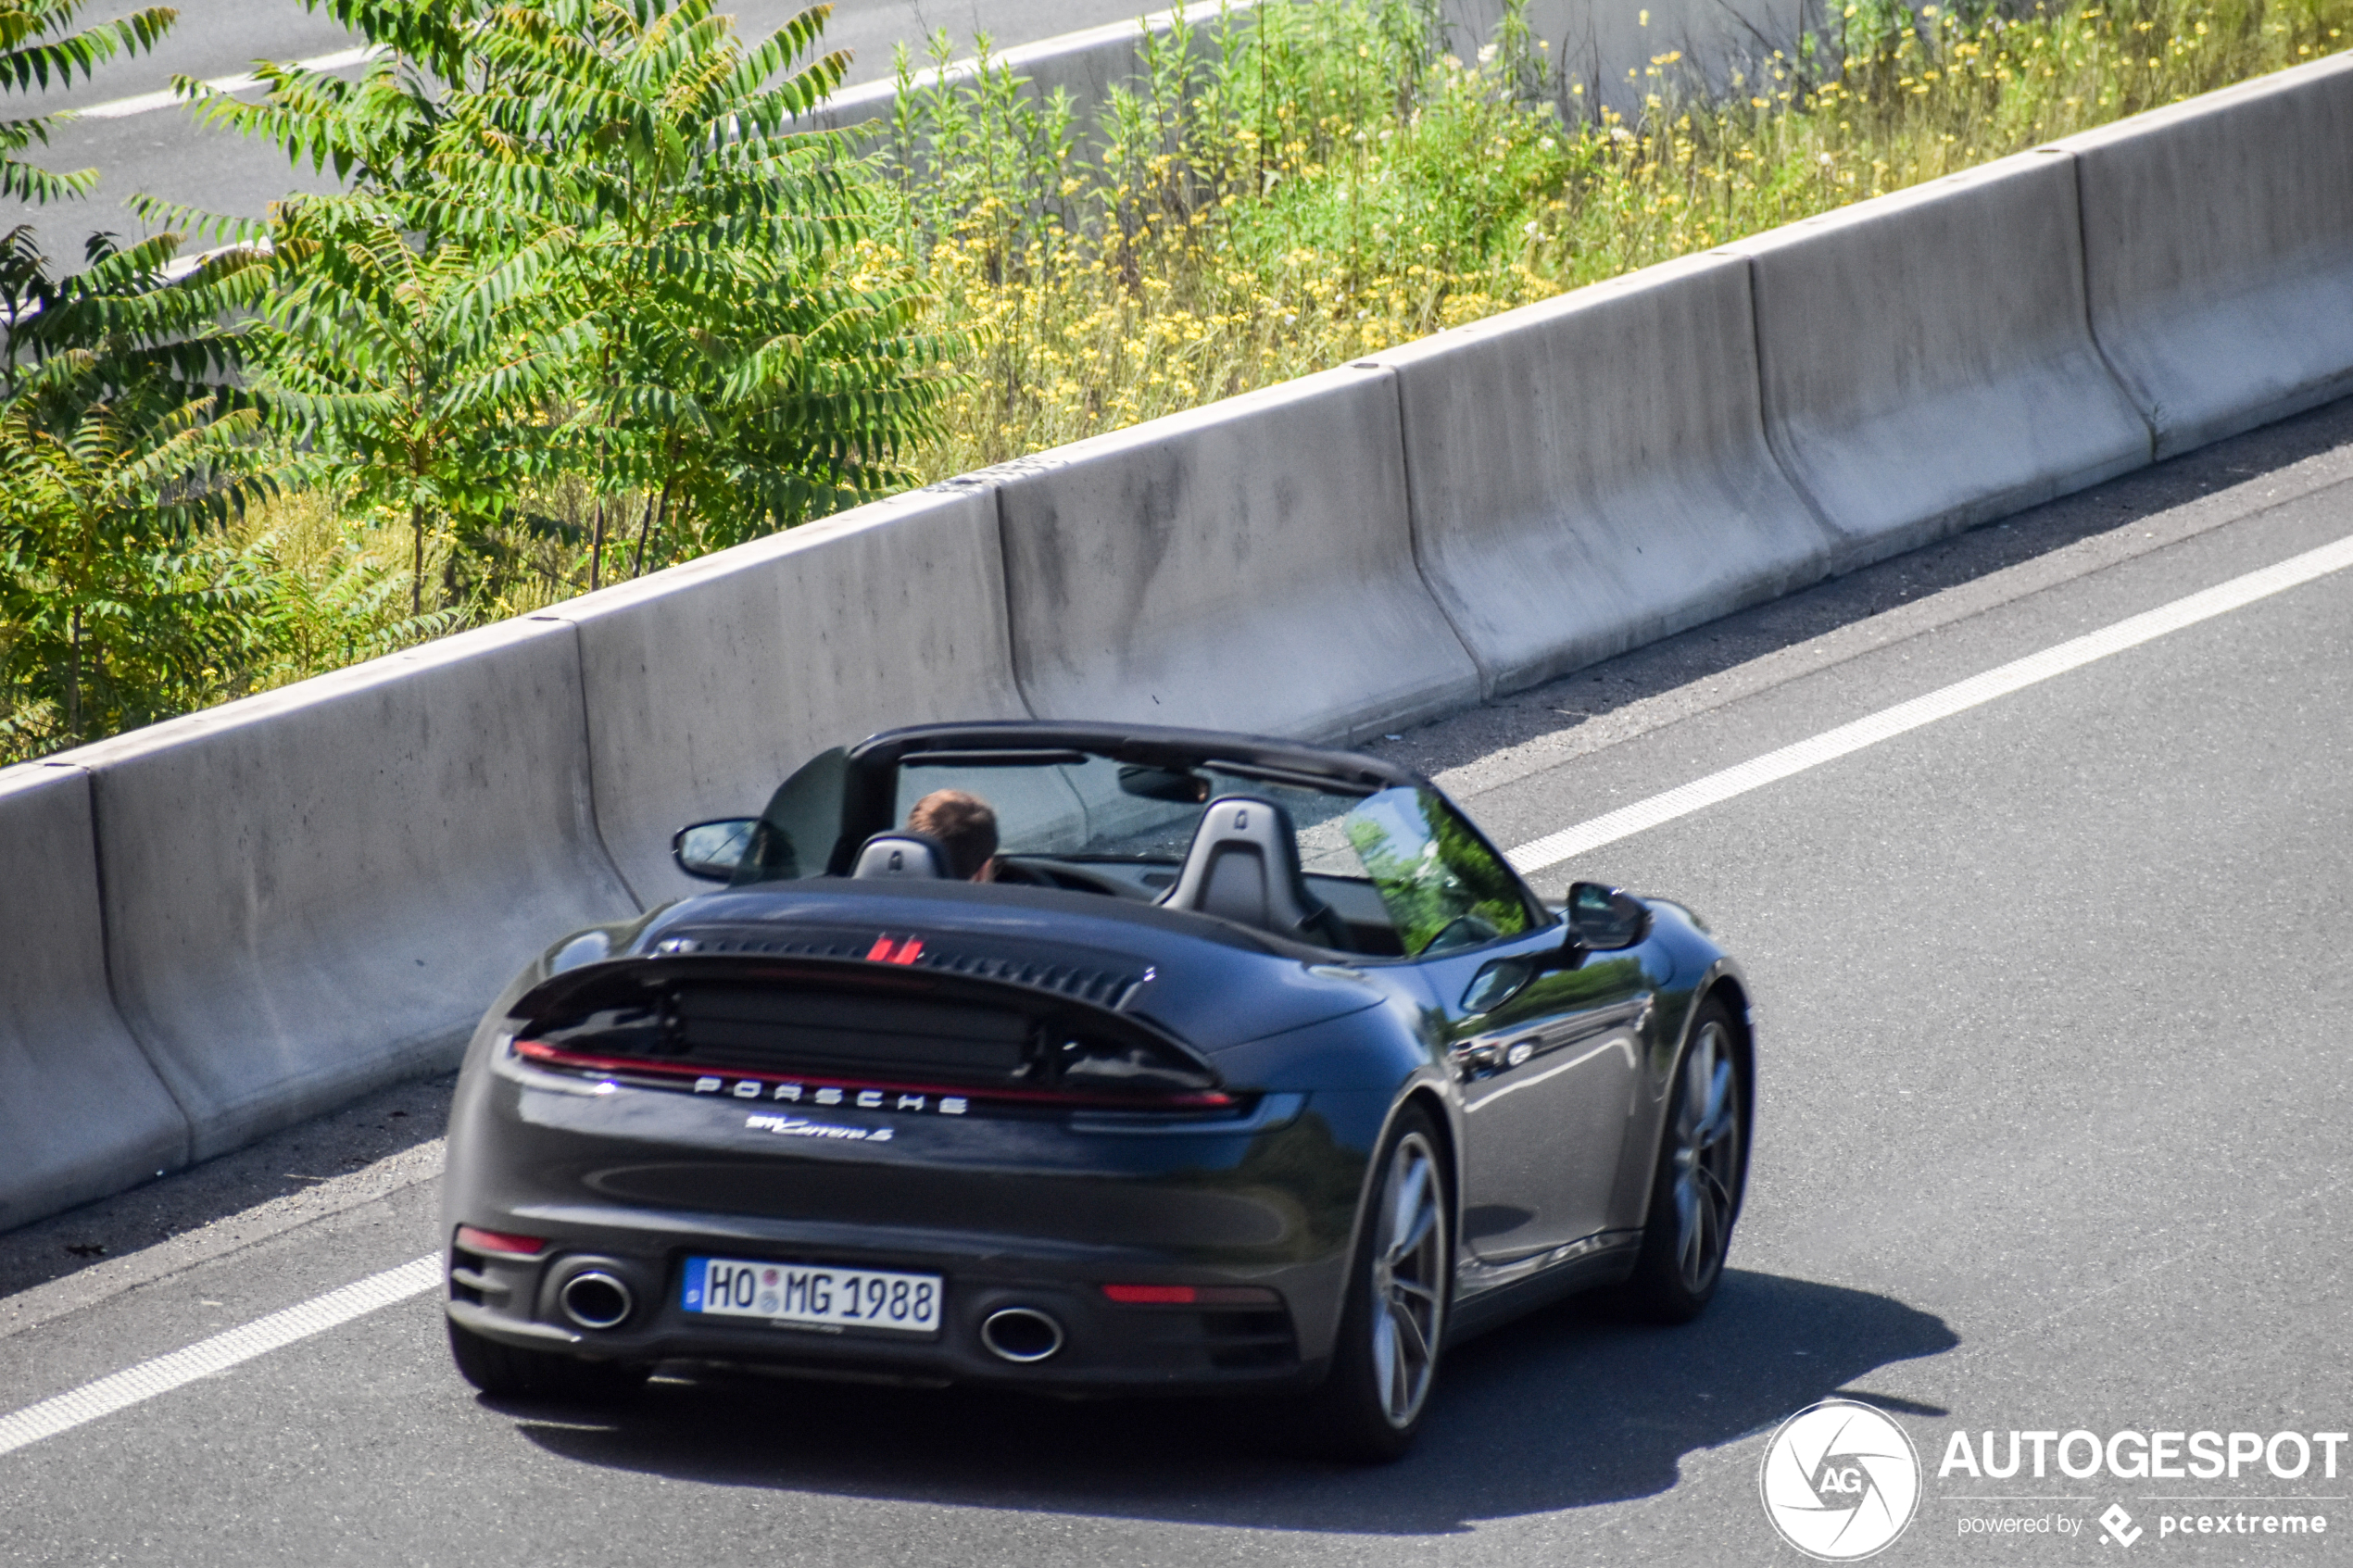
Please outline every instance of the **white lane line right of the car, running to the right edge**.
[[1955, 712], [1977, 708], [1979, 703], [1991, 703], [1998, 696], [2009, 696], [2012, 691], [2033, 686], [2035, 682], [2047, 682], [2054, 675], [2066, 675], [2068, 670], [2078, 670], [2111, 654], [2137, 649], [2144, 642], [2165, 637], [2167, 632], [2179, 632], [2186, 625], [2212, 621], [2214, 616], [2254, 604], [2257, 599], [2268, 599], [2275, 592], [2287, 592], [2289, 588], [2311, 583], [2313, 578], [2322, 578], [2332, 571], [2344, 571], [2346, 567], [2353, 567], [2353, 538], [2339, 538], [2332, 545], [2292, 555], [2278, 567], [2264, 567], [2261, 571], [2249, 571], [2247, 576], [2231, 578], [2228, 583], [2217, 583], [2214, 588], [2174, 599], [2172, 604], [2160, 604], [2158, 609], [2118, 621], [2115, 625], [2061, 642], [2059, 646], [2042, 649], [2040, 654], [2028, 654], [2026, 658], [2000, 665], [1998, 670], [1972, 675], [1969, 679], [1944, 686], [1941, 691], [1929, 691], [1927, 696], [1915, 696], [1908, 703], [1897, 703], [1894, 708], [1854, 719], [1852, 724], [1840, 724], [1838, 729], [1828, 729], [1809, 741], [1798, 741], [1795, 745], [1784, 745], [1777, 752], [1751, 757], [1748, 762], [1729, 766], [1722, 773], [1694, 778], [1692, 783], [1668, 790], [1666, 795], [1652, 795], [1649, 799], [1638, 799], [1631, 806], [1605, 811], [1602, 816], [1577, 823], [1574, 827], [1548, 832], [1541, 839], [1520, 844], [1508, 853], [1508, 858], [1522, 872], [1541, 872], [1544, 867], [1560, 865], [1562, 860], [1581, 856], [1588, 849], [1617, 844], [1619, 839], [1633, 837], [1645, 827], [1659, 827], [1661, 823], [1673, 823], [1678, 816], [1689, 816], [1694, 811], [1704, 811], [1706, 806], [1727, 802], [1734, 795], [1762, 790], [1765, 785], [1779, 783], [1791, 773], [1802, 773], [1805, 769], [1821, 766], [1824, 762], [1833, 762], [1847, 752], [1859, 752], [1866, 745], [1892, 741], [1894, 736], [1920, 729], [1922, 724], [1948, 719]]

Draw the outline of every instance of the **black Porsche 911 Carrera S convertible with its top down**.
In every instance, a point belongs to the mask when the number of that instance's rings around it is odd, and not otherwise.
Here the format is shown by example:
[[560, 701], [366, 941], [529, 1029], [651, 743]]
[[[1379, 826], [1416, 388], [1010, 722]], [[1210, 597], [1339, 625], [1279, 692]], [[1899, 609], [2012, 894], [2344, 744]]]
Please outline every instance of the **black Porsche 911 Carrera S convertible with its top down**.
[[565, 936], [468, 1048], [447, 1316], [489, 1394], [1275, 1394], [1381, 1460], [1449, 1342], [1718, 1286], [1739, 969], [1675, 903], [1544, 903], [1419, 773], [934, 724], [673, 853], [725, 886]]

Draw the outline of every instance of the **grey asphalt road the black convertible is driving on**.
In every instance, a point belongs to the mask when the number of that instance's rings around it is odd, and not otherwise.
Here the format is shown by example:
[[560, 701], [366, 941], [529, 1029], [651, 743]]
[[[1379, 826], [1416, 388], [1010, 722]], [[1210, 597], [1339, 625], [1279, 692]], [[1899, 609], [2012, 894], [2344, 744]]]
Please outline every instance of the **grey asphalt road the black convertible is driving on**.
[[[1391, 750], [1525, 844], [2346, 536], [2353, 404]], [[2120, 1552], [2108, 1505], [2162, 1561], [2344, 1559], [2353, 1453], [2202, 1483], [1939, 1467], [1955, 1432], [2353, 1427], [2348, 715], [2337, 571], [1546, 872], [1678, 896], [1748, 964], [1737, 1267], [1689, 1328], [1567, 1305], [1464, 1347], [1402, 1465], [1304, 1462], [1184, 1403], [492, 1403], [416, 1295], [0, 1453], [0, 1561], [1798, 1563], [1758, 1467], [1831, 1394], [1927, 1467], [1875, 1561], [2092, 1561]], [[0, 1420], [431, 1251], [445, 1095], [0, 1237]], [[2181, 1512], [2329, 1528], [2160, 1535]]]

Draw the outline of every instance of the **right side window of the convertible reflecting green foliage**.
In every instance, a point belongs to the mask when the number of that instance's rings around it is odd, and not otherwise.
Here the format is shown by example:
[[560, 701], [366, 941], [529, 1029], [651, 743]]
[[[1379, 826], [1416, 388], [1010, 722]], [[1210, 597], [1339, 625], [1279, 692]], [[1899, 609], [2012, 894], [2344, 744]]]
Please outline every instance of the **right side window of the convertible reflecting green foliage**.
[[1433, 790], [1381, 790], [1358, 802], [1344, 830], [1407, 957], [1475, 947], [1534, 924], [1511, 867]]

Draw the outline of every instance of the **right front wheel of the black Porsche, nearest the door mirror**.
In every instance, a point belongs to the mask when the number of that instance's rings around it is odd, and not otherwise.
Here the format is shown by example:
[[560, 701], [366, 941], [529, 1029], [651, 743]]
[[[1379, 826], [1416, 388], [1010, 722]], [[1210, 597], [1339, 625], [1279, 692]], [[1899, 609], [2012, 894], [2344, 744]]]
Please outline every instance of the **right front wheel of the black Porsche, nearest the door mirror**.
[[1675, 1093], [1659, 1133], [1642, 1253], [1624, 1302], [1652, 1324], [1689, 1324], [1725, 1276], [1732, 1225], [1748, 1185], [1748, 1121], [1732, 1009], [1708, 997], [1675, 1065]]

